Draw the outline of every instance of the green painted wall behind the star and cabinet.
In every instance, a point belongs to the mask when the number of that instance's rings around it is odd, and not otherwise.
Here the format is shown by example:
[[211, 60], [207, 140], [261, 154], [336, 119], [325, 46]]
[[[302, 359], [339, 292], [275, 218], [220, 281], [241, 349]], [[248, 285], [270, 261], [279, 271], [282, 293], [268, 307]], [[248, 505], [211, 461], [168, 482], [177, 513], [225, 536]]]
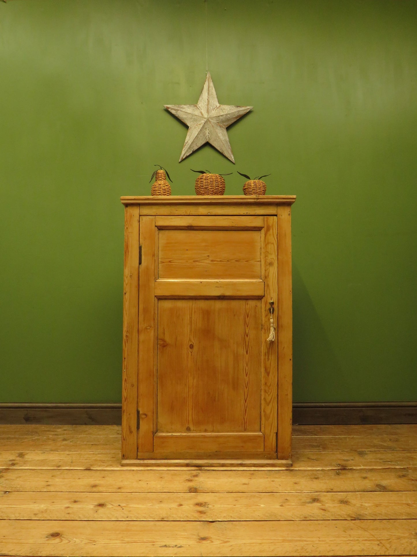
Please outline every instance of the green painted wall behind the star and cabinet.
[[203, 1], [0, 2], [0, 402], [121, 399], [119, 197], [155, 163], [298, 196], [295, 400], [417, 399], [417, 2], [209, 0], [207, 30], [220, 102], [254, 106], [236, 167], [178, 164], [162, 108], [200, 94]]

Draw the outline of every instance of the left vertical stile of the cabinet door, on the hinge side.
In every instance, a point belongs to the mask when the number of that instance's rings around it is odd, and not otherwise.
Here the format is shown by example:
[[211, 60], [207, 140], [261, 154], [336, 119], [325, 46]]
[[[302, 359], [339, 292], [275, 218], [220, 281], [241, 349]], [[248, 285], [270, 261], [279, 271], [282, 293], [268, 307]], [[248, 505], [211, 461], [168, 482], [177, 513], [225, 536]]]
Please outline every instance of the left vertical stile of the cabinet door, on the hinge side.
[[137, 435], [138, 452], [153, 451], [153, 408], [155, 404], [155, 217], [140, 217], [139, 291], [139, 385], [138, 411], [140, 428]]

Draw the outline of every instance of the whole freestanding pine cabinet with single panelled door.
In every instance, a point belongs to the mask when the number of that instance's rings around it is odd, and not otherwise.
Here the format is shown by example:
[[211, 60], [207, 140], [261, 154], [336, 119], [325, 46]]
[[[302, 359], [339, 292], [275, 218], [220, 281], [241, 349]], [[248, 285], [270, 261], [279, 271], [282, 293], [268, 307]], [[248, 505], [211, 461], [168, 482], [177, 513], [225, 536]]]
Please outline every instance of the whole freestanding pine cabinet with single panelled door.
[[122, 198], [123, 464], [291, 463], [294, 201]]

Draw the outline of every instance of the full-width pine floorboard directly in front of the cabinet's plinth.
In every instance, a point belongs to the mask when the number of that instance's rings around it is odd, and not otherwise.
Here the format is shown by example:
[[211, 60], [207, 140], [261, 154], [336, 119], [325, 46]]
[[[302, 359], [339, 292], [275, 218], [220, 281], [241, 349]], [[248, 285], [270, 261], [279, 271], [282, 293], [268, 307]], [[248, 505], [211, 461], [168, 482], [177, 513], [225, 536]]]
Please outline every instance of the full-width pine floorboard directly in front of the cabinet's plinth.
[[[62, 462], [62, 461], [61, 461]], [[336, 470], [0, 470], [4, 491], [116, 493], [315, 493], [417, 491], [417, 468]]]

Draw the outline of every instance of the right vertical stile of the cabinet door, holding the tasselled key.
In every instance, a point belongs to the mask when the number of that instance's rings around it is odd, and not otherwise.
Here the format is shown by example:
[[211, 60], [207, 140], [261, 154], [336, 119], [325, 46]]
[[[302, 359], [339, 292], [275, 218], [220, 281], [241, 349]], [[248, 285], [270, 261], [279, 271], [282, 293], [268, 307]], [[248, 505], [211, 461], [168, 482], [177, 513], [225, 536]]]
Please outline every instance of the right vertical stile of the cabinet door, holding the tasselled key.
[[267, 340], [270, 333], [270, 300], [274, 301], [272, 314], [277, 324], [278, 285], [277, 285], [277, 219], [265, 217], [265, 234], [263, 247], [263, 270], [265, 280], [265, 297], [262, 301], [262, 369], [264, 382], [262, 388], [262, 431], [265, 435], [265, 451], [276, 451], [277, 426], [277, 359], [278, 343]]

